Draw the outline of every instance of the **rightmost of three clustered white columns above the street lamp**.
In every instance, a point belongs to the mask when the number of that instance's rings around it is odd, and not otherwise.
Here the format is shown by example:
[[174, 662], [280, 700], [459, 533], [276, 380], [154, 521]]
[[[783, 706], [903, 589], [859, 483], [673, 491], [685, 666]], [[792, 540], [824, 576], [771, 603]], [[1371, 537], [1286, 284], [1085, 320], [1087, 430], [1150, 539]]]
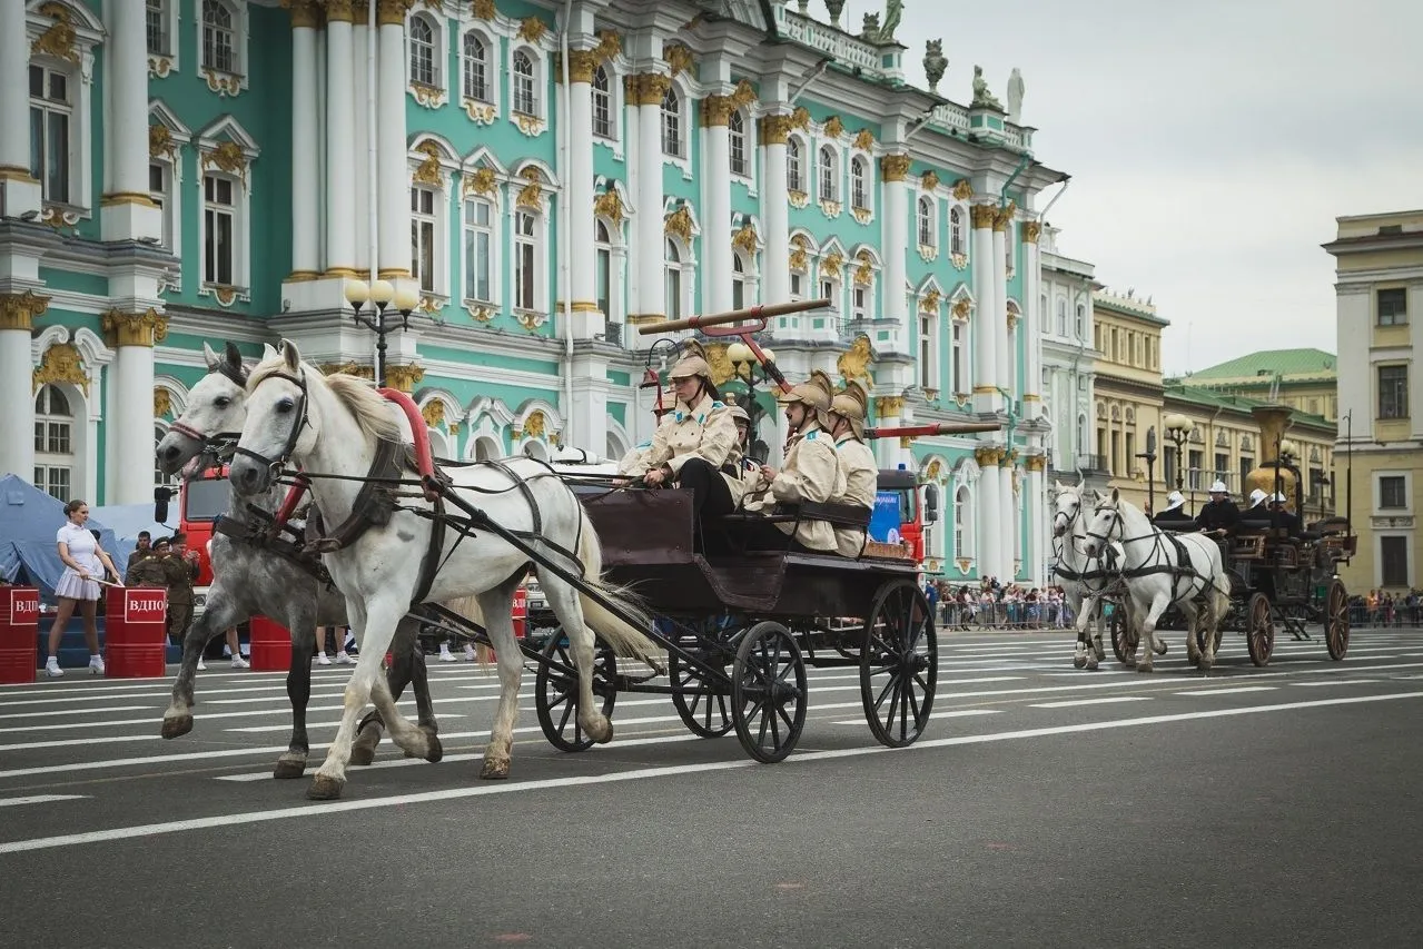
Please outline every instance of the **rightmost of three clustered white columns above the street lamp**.
[[[376, 63], [377, 253], [380, 276], [410, 276], [410, 169], [406, 161], [406, 17], [404, 4], [380, 4], [380, 51]], [[364, 186], [364, 185], [363, 185]]]

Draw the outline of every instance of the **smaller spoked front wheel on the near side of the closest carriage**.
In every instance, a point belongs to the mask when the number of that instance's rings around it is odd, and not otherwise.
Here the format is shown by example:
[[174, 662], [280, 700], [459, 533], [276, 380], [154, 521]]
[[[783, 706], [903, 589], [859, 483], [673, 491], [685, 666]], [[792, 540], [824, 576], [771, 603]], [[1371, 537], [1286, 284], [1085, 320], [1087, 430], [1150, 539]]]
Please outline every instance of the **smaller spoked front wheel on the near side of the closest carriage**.
[[731, 721], [757, 761], [780, 761], [805, 727], [805, 659], [780, 623], [757, 623], [736, 650]]

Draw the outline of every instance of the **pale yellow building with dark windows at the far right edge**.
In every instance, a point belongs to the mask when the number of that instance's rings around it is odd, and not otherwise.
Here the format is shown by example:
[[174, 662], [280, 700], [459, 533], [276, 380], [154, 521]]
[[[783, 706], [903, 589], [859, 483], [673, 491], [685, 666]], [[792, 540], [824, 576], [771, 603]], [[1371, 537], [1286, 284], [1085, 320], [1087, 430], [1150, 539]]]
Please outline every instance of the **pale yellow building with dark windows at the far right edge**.
[[[1350, 590], [1423, 583], [1423, 211], [1338, 218], [1336, 479], [1352, 460], [1349, 516], [1359, 552], [1340, 569]], [[1343, 494], [1340, 507], [1343, 504]]]

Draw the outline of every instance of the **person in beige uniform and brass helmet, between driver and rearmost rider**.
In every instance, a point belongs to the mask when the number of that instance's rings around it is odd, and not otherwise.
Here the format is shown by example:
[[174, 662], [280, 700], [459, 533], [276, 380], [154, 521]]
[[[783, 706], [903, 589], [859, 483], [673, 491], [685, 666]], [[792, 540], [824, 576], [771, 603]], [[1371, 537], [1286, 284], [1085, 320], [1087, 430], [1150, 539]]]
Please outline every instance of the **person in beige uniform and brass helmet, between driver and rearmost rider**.
[[[776, 471], [761, 465], [761, 477], [754, 494], [747, 495], [747, 511], [770, 511], [774, 504], [798, 504], [801, 501], [825, 502], [835, 492], [838, 460], [830, 433], [822, 428], [825, 410], [834, 386], [830, 376], [815, 370], [810, 381], [801, 383], [777, 398], [785, 405], [785, 421], [795, 435], [785, 451], [785, 467]], [[801, 519], [798, 524], [774, 524], [783, 535], [793, 534], [790, 549], [832, 553], [835, 532], [825, 521]], [[774, 539], [767, 531], [757, 531], [754, 539], [770, 545]], [[784, 538], [781, 538], [784, 545]]]

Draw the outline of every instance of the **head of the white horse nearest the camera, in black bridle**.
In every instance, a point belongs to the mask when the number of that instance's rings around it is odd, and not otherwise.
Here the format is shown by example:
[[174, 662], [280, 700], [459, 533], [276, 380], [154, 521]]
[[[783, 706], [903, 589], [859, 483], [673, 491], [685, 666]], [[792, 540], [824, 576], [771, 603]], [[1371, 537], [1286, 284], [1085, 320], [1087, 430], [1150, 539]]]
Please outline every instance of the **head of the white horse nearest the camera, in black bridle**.
[[309, 450], [316, 430], [309, 420], [307, 367], [296, 343], [282, 340], [277, 353], [252, 370], [243, 401], [246, 418], [228, 470], [239, 497], [262, 494], [280, 470]]

